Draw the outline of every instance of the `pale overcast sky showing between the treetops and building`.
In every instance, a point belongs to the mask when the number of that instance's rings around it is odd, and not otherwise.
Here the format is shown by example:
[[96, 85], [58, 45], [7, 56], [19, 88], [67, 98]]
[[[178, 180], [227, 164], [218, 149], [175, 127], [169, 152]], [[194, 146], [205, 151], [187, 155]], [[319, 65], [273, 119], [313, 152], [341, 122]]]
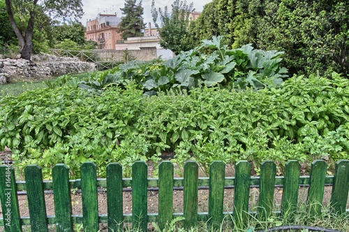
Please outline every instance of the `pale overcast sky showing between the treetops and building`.
[[[212, 0], [187, 0], [187, 3], [194, 3], [195, 11], [202, 11], [205, 4], [209, 3]], [[137, 1], [138, 3], [139, 1]], [[169, 11], [172, 9], [171, 4], [174, 0], [155, 0], [155, 6], [158, 9], [159, 7], [164, 8], [168, 6]], [[82, 17], [82, 24], [86, 26], [87, 20], [93, 20], [97, 17], [98, 13], [106, 13], [112, 14], [117, 13], [118, 16], [121, 15], [120, 8], [124, 8], [125, 0], [82, 0], [82, 4], [84, 4], [84, 17]], [[143, 0], [142, 6], [144, 8], [144, 23], [148, 25], [148, 22], [153, 23], [151, 18], [150, 8], [151, 8], [151, 0]], [[146, 26], [147, 27], [147, 26]]]

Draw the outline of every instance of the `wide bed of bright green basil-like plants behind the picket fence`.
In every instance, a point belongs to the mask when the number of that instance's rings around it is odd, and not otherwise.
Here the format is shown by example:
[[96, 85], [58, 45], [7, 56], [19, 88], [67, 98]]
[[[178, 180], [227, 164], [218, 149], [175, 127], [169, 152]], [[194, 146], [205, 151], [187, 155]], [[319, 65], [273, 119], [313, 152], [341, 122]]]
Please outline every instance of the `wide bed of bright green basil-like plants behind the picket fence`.
[[157, 161], [168, 151], [179, 165], [193, 155], [205, 171], [214, 160], [257, 166], [267, 159], [349, 158], [349, 80], [337, 73], [295, 76], [277, 89], [204, 87], [151, 97], [135, 80], [98, 94], [79, 82], [62, 77], [47, 89], [0, 100], [0, 150], [13, 150], [15, 166], [38, 164], [47, 176], [65, 163], [77, 175], [89, 160], [105, 175], [107, 164], [118, 161], [129, 175], [134, 161]]

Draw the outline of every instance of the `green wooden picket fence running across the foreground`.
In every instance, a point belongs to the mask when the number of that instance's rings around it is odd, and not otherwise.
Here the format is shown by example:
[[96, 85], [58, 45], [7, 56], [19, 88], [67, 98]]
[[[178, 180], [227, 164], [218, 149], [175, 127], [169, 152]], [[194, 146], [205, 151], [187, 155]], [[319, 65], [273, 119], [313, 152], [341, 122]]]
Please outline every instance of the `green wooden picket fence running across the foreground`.
[[[22, 231], [22, 225], [30, 225], [31, 231], [48, 231], [48, 224], [55, 224], [56, 231], [73, 231], [73, 224], [83, 224], [84, 231], [98, 231], [99, 224], [107, 223], [108, 231], [119, 231], [124, 222], [131, 222], [133, 228], [147, 231], [148, 222], [157, 222], [161, 229], [174, 217], [184, 217], [183, 226], [190, 228], [198, 221], [209, 222], [217, 227], [226, 215], [231, 215], [235, 225], [243, 226], [251, 214], [267, 219], [274, 212], [274, 189], [283, 185], [280, 215], [295, 213], [297, 210], [299, 184], [307, 184], [307, 205], [311, 215], [320, 214], [326, 184], [332, 185], [330, 205], [338, 213], [348, 212], [346, 204], [349, 190], [349, 160], [336, 163], [334, 176], [326, 176], [325, 161], [314, 161], [309, 176], [300, 176], [300, 164], [288, 161], [285, 176], [276, 177], [276, 165], [272, 161], [261, 164], [260, 177], [251, 177], [251, 165], [239, 161], [235, 166], [235, 177], [225, 177], [225, 164], [215, 161], [210, 166], [209, 177], [198, 177], [198, 164], [188, 161], [184, 165], [184, 177], [174, 178], [170, 161], [163, 161], [158, 178], [147, 177], [147, 164], [142, 161], [132, 166], [132, 178], [122, 178], [120, 164], [107, 166], [106, 179], [97, 179], [96, 165], [82, 164], [81, 179], [69, 180], [68, 168], [57, 164], [52, 169], [52, 181], [43, 181], [39, 166], [24, 169], [25, 182], [15, 181], [12, 167], [0, 167], [0, 200], [3, 210], [1, 226], [5, 231]], [[258, 186], [257, 212], [248, 208], [250, 187]], [[209, 187], [208, 212], [198, 213], [198, 187]], [[234, 186], [234, 202], [230, 212], [223, 210], [224, 187]], [[107, 189], [107, 215], [98, 214], [98, 188]], [[132, 213], [123, 213], [123, 187], [132, 187]], [[147, 212], [147, 188], [158, 187], [158, 212]], [[184, 210], [174, 213], [173, 187], [184, 187]], [[82, 191], [83, 215], [72, 215], [70, 189]], [[44, 190], [52, 189], [54, 194], [54, 216], [46, 215]], [[29, 217], [21, 217], [18, 207], [17, 190], [27, 191]]]

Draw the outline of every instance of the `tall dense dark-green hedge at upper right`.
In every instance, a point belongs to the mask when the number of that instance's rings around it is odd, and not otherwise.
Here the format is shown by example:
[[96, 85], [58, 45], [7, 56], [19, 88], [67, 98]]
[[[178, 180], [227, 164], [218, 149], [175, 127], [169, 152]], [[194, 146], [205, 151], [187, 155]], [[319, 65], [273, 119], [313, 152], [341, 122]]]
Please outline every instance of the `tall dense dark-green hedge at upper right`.
[[348, 74], [348, 15], [349, 3], [341, 0], [214, 0], [189, 33], [197, 41], [224, 36], [232, 48], [282, 50], [291, 74]]

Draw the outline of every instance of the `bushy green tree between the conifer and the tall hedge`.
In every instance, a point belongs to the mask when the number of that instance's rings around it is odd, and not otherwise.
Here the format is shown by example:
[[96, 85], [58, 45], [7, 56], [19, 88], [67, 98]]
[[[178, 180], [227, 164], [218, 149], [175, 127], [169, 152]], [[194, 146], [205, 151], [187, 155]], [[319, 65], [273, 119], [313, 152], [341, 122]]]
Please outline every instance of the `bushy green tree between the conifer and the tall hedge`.
[[172, 3], [172, 11], [168, 12], [168, 7], [164, 10], [156, 10], [154, 0], [151, 3], [151, 16], [154, 24], [160, 14], [161, 27], [158, 27], [160, 35], [160, 45], [163, 48], [170, 49], [174, 54], [193, 48], [192, 39], [188, 36], [189, 17], [193, 12], [193, 3], [189, 5], [186, 1], [175, 0]]

